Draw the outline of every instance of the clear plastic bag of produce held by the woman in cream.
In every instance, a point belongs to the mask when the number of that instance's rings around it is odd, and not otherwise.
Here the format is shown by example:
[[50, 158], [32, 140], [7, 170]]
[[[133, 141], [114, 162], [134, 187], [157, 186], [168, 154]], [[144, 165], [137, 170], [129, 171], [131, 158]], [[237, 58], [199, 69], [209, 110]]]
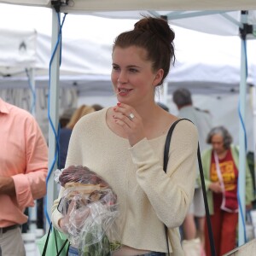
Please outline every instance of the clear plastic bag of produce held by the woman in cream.
[[110, 255], [120, 247], [117, 196], [102, 177], [85, 166], [55, 172], [65, 188], [58, 210], [68, 216], [68, 240], [79, 255]]

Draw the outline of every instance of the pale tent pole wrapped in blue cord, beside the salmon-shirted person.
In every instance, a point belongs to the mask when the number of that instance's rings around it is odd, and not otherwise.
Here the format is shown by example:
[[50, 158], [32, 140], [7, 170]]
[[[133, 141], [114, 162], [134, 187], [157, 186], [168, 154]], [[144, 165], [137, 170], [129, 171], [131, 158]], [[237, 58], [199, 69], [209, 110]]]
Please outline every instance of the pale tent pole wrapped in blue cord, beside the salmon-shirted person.
[[[55, 9], [52, 11], [52, 41], [51, 41], [51, 49], [52, 53], [55, 49], [55, 44], [58, 41], [59, 36], [59, 20], [58, 15], [55, 12]], [[48, 183], [47, 183], [47, 212], [49, 214], [49, 218], [51, 215], [51, 207], [53, 206], [53, 201], [57, 198], [58, 191], [57, 185], [55, 184], [54, 180], [54, 172], [56, 170], [56, 162], [55, 162], [55, 154], [56, 154], [56, 140], [55, 140], [55, 132], [58, 132], [58, 124], [59, 124], [59, 74], [60, 74], [60, 45], [57, 47], [55, 51], [55, 55], [53, 56], [53, 60], [51, 63], [50, 68], [50, 77], [49, 77], [49, 117], [52, 121], [52, 125], [49, 122], [49, 164], [48, 170], [52, 169], [52, 172], [49, 176]], [[58, 157], [58, 156], [57, 156]], [[54, 164], [55, 162], [55, 164]], [[54, 166], [53, 166], [54, 165]], [[49, 229], [49, 222], [46, 221], [46, 230]]]

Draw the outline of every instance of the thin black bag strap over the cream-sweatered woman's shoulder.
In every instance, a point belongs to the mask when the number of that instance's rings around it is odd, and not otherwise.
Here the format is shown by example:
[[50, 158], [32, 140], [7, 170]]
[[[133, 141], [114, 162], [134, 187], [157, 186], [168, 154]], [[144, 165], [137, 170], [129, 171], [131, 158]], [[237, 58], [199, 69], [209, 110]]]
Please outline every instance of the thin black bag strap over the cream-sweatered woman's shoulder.
[[[165, 172], [166, 172], [167, 164], [168, 164], [169, 148], [170, 148], [170, 143], [171, 143], [171, 138], [172, 138], [172, 131], [174, 130], [177, 123], [181, 120], [188, 120], [189, 122], [192, 122], [189, 119], [177, 119], [172, 124], [172, 126], [170, 127], [170, 130], [167, 133], [165, 151], [164, 151], [164, 171]], [[202, 168], [202, 164], [201, 164], [201, 152], [200, 152], [199, 143], [198, 143], [198, 148], [197, 148], [197, 159], [198, 159], [198, 165], [199, 165], [200, 177], [201, 177], [201, 188], [202, 188], [202, 193], [203, 193], [203, 198], [204, 198], [204, 203], [205, 203], [205, 209], [206, 209], [207, 228], [208, 228], [208, 236], [209, 236], [210, 246], [211, 246], [211, 254], [212, 254], [212, 256], [216, 256], [216, 251], [215, 251], [215, 246], [214, 246], [214, 239], [213, 239], [213, 234], [212, 234], [212, 224], [211, 224], [208, 201], [207, 201], [207, 189], [206, 189], [206, 184], [205, 184], [204, 172], [203, 172], [203, 168]], [[167, 249], [168, 249], [168, 253], [170, 253], [170, 251], [169, 251], [169, 242], [168, 242], [168, 228], [166, 227], [166, 224], [165, 224], [165, 230], [166, 230]]]

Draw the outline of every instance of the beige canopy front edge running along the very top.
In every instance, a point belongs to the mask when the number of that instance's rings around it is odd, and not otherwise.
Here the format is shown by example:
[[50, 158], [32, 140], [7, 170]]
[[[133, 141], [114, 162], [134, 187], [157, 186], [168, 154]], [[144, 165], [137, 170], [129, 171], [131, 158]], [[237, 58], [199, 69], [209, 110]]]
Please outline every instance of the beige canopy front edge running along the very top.
[[[50, 6], [50, 0], [2, 0], [2, 3]], [[54, 1], [52, 1], [54, 2]], [[57, 1], [55, 1], [57, 2]], [[198, 9], [255, 9], [254, 0], [72, 0], [68, 10], [109, 11], [109, 10], [198, 10]]]

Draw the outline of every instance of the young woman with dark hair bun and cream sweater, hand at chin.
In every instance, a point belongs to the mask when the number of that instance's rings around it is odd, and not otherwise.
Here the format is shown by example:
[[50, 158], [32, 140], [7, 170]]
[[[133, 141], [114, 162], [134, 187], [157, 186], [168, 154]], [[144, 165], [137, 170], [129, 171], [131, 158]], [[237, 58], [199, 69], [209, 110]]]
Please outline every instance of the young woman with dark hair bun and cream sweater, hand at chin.
[[[174, 32], [166, 20], [144, 17], [113, 44], [111, 79], [117, 105], [79, 120], [73, 128], [66, 166], [82, 165], [104, 178], [120, 212], [122, 247], [114, 256], [183, 255], [178, 227], [193, 199], [198, 136], [183, 120], [173, 131], [167, 172], [163, 171], [167, 131], [177, 117], [154, 102], [154, 93], [174, 63]], [[56, 207], [52, 222], [68, 222]], [[71, 255], [71, 254], [70, 254]]]

